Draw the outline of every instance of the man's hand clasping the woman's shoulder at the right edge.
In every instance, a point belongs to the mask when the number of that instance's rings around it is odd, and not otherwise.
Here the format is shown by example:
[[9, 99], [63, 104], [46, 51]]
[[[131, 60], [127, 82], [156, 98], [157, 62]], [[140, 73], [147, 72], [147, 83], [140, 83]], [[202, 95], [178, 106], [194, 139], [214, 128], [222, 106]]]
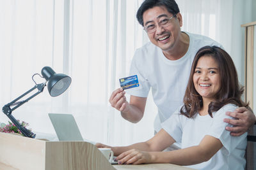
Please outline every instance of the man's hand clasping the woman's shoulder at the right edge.
[[250, 127], [255, 124], [255, 115], [249, 108], [237, 108], [234, 112], [227, 111], [226, 115], [236, 119], [225, 118], [224, 122], [234, 125], [234, 127], [226, 127], [232, 136], [241, 136], [244, 132], [248, 131]]

